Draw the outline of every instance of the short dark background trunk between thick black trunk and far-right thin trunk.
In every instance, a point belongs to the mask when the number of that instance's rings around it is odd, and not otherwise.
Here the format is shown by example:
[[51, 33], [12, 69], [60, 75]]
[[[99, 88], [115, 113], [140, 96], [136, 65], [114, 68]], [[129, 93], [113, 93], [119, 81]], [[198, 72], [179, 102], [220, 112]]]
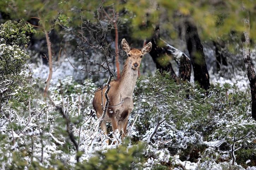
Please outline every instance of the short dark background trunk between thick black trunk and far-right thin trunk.
[[227, 59], [223, 55], [223, 48], [225, 48], [225, 44], [223, 42], [219, 43], [213, 41], [213, 45], [215, 46], [215, 56], [216, 56], [216, 64], [217, 64], [217, 71], [220, 71], [221, 65], [227, 66]]

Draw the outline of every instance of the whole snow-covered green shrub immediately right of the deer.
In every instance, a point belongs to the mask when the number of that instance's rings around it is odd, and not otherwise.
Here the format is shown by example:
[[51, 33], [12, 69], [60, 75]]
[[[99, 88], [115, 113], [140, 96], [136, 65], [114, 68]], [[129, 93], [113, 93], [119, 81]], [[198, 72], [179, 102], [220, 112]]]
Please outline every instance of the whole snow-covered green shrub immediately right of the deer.
[[201, 142], [201, 137], [215, 126], [213, 117], [224, 109], [225, 100], [218, 89], [207, 96], [198, 86], [178, 85], [169, 74], [150, 76], [138, 84], [137, 91], [135, 113], [140, 116], [136, 128], [147, 142], [169, 140], [177, 143], [178, 148]]

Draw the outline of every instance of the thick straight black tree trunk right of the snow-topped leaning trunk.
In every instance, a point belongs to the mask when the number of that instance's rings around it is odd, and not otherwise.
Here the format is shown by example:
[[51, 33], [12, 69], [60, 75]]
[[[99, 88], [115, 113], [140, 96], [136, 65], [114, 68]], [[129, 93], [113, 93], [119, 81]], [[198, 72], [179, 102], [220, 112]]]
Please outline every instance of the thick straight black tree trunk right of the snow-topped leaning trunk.
[[191, 63], [194, 70], [194, 79], [205, 90], [209, 89], [209, 73], [206, 66], [203, 45], [197, 33], [197, 28], [191, 22], [185, 22], [185, 38], [187, 50], [189, 51]]

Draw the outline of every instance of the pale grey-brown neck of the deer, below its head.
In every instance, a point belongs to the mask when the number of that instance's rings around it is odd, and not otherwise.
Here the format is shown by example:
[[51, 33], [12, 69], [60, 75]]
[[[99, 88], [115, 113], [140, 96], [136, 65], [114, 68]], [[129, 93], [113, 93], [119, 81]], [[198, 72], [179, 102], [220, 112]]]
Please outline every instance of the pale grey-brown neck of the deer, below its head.
[[120, 83], [118, 90], [121, 98], [132, 98], [132, 93], [136, 85], [137, 77], [138, 70], [133, 69], [129, 60], [126, 60], [123, 67], [122, 76], [119, 80]]

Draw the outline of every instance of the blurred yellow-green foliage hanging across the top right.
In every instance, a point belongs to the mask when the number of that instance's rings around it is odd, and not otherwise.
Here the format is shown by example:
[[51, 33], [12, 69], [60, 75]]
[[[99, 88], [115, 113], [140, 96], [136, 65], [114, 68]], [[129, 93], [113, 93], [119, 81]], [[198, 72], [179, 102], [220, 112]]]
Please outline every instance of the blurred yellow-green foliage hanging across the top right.
[[[157, 1], [127, 1], [125, 3], [110, 1], [106, 3], [116, 4], [117, 11], [127, 10], [122, 16], [124, 22], [132, 18], [133, 38], [150, 38], [154, 26], [160, 23], [161, 29], [169, 32], [174, 37], [175, 25], [183, 25], [184, 19], [189, 19], [197, 25], [203, 40], [216, 40], [218, 37], [230, 37], [232, 31], [240, 36], [245, 30], [243, 19], [246, 11], [250, 13], [251, 30], [255, 30], [255, 0], [231, 0], [221, 2], [191, 1], [191, 0], [157, 0]], [[256, 39], [255, 31], [251, 31], [250, 37]], [[239, 40], [240, 41], [240, 38]], [[231, 42], [233, 43], [233, 42]]]

